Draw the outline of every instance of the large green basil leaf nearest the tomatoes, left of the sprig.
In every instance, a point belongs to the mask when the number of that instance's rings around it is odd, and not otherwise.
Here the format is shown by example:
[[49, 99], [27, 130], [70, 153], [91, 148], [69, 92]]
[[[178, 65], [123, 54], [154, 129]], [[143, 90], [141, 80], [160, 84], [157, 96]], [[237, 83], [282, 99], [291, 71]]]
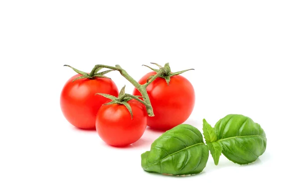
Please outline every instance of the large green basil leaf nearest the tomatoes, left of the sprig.
[[147, 172], [189, 175], [202, 172], [209, 157], [199, 130], [191, 125], [178, 125], [157, 138], [141, 155]]

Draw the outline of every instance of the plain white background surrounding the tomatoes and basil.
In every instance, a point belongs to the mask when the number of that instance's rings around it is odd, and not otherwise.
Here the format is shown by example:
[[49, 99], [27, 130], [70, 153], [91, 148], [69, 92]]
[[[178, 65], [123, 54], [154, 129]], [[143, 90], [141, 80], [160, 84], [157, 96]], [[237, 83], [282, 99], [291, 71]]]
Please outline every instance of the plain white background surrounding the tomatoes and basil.
[[[191, 177], [149, 174], [141, 154], [160, 132], [114, 148], [64, 119], [60, 92], [75, 74], [64, 64], [120, 64], [139, 80], [149, 62], [195, 68], [183, 74], [196, 91], [186, 123], [247, 115], [264, 128], [266, 152], [247, 166], [210, 156]], [[298, 66], [296, 0], [3, 0], [0, 195], [297, 195]]]

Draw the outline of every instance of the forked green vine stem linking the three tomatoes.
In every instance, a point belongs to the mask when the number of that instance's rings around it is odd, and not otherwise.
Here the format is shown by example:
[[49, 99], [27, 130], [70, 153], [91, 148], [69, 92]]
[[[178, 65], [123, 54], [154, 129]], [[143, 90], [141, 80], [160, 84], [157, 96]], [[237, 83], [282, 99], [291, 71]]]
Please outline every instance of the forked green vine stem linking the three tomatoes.
[[[127, 72], [126, 70], [124, 70], [123, 68], [121, 68], [121, 66], [116, 65], [115, 67], [112, 66], [108, 66], [108, 65], [96, 65], [95, 68], [108, 68], [108, 69], [112, 69], [112, 70], [117, 70], [120, 72], [120, 74], [125, 77], [132, 85], [134, 85], [134, 87], [141, 93], [144, 101], [143, 103], [145, 104], [146, 108], [147, 108], [147, 112], [149, 114], [149, 116], [154, 116], [153, 114], [153, 110], [152, 110], [152, 106], [149, 100], [149, 95], [147, 92], [147, 86], [154, 81], [154, 79], [156, 79], [157, 77], [159, 77], [164, 70], [161, 69], [154, 77], [152, 77], [152, 79], [150, 79], [150, 81], [148, 83], [146, 83], [145, 85], [141, 85], [139, 84], [136, 80], [134, 80], [134, 78], [132, 78]], [[128, 95], [127, 95], [128, 96]], [[142, 101], [142, 100], [141, 100]], [[140, 102], [141, 102], [140, 101]]]

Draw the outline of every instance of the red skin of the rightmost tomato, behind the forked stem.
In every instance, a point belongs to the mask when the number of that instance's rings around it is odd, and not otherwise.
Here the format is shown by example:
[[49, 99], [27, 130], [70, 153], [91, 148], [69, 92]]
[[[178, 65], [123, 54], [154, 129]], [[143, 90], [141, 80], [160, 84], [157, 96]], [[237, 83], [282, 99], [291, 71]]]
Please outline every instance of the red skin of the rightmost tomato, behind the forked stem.
[[[139, 84], [145, 84], [155, 74], [146, 74]], [[168, 86], [165, 79], [157, 78], [147, 87], [147, 92], [154, 113], [154, 116], [148, 116], [148, 126], [154, 129], [171, 129], [187, 120], [192, 113], [195, 92], [192, 84], [183, 76], [172, 76]], [[134, 89], [133, 95], [141, 96], [141, 93]]]

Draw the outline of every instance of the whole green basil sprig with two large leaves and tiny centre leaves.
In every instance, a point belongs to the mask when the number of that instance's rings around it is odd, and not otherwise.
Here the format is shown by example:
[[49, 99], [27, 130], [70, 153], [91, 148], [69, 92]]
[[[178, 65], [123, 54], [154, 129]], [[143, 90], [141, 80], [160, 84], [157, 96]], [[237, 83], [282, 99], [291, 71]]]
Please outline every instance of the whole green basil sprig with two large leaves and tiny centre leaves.
[[181, 124], [166, 131], [151, 144], [150, 151], [141, 155], [142, 168], [161, 174], [197, 174], [205, 168], [209, 151], [215, 165], [221, 154], [244, 165], [256, 161], [267, 146], [262, 127], [240, 114], [221, 118], [214, 128], [203, 119], [203, 135], [207, 145], [191, 125]]

